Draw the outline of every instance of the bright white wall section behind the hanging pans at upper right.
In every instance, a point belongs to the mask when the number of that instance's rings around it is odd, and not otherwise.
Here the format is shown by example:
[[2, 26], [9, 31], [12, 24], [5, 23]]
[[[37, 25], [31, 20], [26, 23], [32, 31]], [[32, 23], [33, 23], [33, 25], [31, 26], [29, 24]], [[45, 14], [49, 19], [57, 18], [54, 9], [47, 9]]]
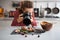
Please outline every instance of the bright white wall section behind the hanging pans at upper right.
[[[34, 7], [37, 8], [46, 8], [47, 7], [47, 3], [48, 3], [48, 7], [53, 9], [55, 7], [55, 3], [56, 3], [56, 7], [58, 7], [60, 9], [60, 2], [37, 2], [34, 3]], [[51, 14], [49, 14], [51, 15]], [[59, 16], [60, 17], [60, 12], [58, 14], [53, 14], [54, 16]]]

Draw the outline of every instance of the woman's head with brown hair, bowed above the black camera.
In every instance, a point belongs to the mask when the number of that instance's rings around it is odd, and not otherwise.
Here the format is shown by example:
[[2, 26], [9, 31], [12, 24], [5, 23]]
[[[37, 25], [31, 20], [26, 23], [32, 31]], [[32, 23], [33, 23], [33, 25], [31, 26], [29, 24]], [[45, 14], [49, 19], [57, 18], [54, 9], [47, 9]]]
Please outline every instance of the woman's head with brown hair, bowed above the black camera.
[[31, 1], [23, 1], [22, 5], [21, 5], [22, 11], [33, 11], [33, 2]]

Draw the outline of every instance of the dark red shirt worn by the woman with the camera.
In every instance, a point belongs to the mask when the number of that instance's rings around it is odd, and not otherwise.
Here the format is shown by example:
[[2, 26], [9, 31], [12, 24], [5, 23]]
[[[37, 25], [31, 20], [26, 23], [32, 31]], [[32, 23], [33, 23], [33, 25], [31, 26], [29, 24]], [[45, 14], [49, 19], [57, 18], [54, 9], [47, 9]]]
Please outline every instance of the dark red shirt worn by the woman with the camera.
[[[14, 20], [12, 21], [11, 26], [25, 26], [25, 25], [23, 24], [23, 21], [20, 22], [20, 23], [17, 22], [18, 16], [19, 16], [19, 12], [18, 12], [18, 11], [15, 11], [15, 12], [14, 12]], [[31, 25], [32, 25], [32, 26], [37, 26], [36, 20], [34, 19], [34, 13], [32, 13], [32, 16], [31, 16], [31, 17], [32, 17], [32, 19], [33, 19]]]

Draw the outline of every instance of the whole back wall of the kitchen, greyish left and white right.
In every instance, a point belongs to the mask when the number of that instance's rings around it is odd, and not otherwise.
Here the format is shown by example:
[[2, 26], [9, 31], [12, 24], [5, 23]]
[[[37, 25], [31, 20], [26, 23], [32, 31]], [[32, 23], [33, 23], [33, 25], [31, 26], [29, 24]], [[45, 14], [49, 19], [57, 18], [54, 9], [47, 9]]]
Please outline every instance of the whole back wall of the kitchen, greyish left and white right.
[[[21, 1], [21, 0], [0, 0], [0, 5], [7, 11], [10, 10], [15, 10], [15, 8], [12, 7], [12, 1]], [[49, 2], [49, 7], [53, 8], [55, 7], [55, 2], [50, 2], [50, 1], [60, 1], [60, 0], [32, 0], [32, 1], [45, 1], [45, 2], [34, 2], [34, 7], [40, 8], [40, 6], [42, 6], [43, 8], [47, 7], [47, 2]], [[60, 2], [57, 2], [57, 7], [60, 9]], [[55, 15], [55, 14], [54, 14]], [[58, 16], [60, 15], [57, 14]]]

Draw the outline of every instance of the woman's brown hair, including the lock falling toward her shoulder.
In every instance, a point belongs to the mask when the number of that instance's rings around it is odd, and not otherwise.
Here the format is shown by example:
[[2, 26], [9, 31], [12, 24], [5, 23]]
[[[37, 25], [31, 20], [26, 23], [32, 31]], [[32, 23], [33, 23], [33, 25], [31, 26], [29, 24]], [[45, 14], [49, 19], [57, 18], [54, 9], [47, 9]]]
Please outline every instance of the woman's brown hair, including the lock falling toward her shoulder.
[[33, 8], [32, 1], [21, 1], [21, 8], [19, 9], [19, 13], [23, 13], [25, 8]]

